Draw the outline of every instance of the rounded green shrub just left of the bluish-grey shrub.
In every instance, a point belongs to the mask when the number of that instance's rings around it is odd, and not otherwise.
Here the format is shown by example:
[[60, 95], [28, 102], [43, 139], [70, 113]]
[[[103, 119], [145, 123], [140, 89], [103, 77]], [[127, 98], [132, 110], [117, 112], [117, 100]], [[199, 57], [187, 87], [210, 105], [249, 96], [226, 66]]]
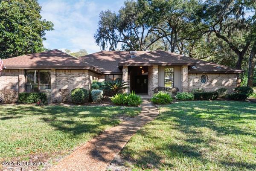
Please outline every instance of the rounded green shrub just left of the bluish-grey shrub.
[[71, 91], [71, 100], [75, 104], [82, 104], [89, 100], [88, 90], [84, 88], [75, 88]]

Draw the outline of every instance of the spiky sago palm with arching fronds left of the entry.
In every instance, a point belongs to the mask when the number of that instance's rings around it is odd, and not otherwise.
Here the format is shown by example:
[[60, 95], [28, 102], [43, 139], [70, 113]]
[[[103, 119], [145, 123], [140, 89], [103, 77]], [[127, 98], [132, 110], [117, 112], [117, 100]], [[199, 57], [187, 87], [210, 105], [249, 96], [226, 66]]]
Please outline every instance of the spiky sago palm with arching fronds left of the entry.
[[105, 89], [111, 90], [114, 94], [116, 93], [122, 93], [122, 90], [128, 88], [127, 82], [122, 82], [119, 80], [106, 82], [104, 85]]

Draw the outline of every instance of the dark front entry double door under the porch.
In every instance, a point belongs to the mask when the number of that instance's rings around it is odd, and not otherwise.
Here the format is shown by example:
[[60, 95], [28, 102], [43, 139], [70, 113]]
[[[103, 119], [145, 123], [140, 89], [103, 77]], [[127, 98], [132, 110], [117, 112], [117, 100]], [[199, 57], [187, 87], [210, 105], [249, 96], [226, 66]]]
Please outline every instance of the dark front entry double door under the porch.
[[137, 75], [135, 77], [135, 93], [148, 93], [148, 75]]

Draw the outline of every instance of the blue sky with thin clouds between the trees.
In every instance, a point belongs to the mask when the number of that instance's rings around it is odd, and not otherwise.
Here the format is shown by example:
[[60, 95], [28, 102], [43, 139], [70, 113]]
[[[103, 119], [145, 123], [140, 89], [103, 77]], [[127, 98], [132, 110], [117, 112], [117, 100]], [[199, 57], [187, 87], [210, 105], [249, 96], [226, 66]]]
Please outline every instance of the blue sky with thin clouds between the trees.
[[100, 51], [93, 35], [97, 29], [99, 13], [110, 9], [117, 12], [124, 0], [38, 0], [43, 19], [54, 24], [47, 31], [44, 46], [49, 49], [86, 49], [88, 53]]

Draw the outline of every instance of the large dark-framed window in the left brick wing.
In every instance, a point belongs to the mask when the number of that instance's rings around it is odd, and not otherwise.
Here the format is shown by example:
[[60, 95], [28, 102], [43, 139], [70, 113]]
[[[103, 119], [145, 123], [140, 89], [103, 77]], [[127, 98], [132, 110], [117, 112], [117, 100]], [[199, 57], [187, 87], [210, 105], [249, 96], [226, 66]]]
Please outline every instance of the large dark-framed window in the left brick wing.
[[51, 72], [49, 70], [27, 70], [26, 92], [44, 92], [51, 89]]

